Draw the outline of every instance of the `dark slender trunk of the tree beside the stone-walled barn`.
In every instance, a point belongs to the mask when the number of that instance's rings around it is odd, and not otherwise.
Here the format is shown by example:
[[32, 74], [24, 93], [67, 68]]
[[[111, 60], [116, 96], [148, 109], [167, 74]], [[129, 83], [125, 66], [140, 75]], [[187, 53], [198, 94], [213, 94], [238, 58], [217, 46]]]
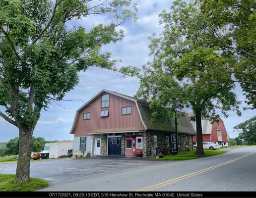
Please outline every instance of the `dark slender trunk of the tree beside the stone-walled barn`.
[[202, 124], [201, 124], [201, 111], [195, 112], [195, 123], [196, 123], [196, 154], [204, 155], [202, 145]]

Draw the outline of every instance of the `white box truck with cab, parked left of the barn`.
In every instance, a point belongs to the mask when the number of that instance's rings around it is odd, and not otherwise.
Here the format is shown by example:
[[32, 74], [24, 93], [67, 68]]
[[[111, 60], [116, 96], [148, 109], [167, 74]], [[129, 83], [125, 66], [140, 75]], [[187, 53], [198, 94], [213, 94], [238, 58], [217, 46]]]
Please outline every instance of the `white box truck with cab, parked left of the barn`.
[[67, 151], [74, 148], [74, 141], [59, 141], [45, 144], [44, 150], [40, 153], [40, 158], [59, 158], [67, 156]]

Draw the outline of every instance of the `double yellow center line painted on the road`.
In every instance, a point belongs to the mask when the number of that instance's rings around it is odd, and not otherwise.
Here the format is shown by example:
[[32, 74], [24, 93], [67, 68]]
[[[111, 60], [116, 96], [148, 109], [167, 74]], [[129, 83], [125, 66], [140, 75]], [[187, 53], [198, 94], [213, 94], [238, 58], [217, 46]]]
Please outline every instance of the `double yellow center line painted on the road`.
[[213, 170], [213, 169], [215, 169], [215, 168], [218, 168], [218, 167], [227, 165], [227, 164], [229, 164], [229, 163], [235, 162], [235, 161], [240, 160], [240, 159], [242, 159], [242, 158], [244, 158], [244, 157], [247, 157], [248, 155], [251, 155], [251, 154], [253, 154], [253, 153], [255, 153], [255, 152], [256, 152], [256, 151], [254, 151], [254, 152], [252, 152], [252, 153], [249, 153], [249, 154], [247, 154], [247, 155], [244, 155], [244, 156], [242, 156], [242, 157], [238, 157], [238, 158], [236, 158], [236, 159], [227, 161], [227, 162], [225, 162], [225, 163], [218, 164], [218, 165], [215, 165], [215, 166], [212, 166], [212, 167], [209, 167], [209, 168], [205, 168], [205, 169], [203, 169], [203, 170], [199, 170], [199, 171], [190, 173], [190, 174], [188, 174], [188, 175], [184, 175], [184, 176], [177, 177], [177, 178], [174, 178], [174, 179], [165, 181], [165, 182], [161, 182], [161, 183], [158, 183], [158, 184], [155, 184], [155, 185], [152, 185], [152, 186], [143, 188], [143, 189], [139, 189], [139, 190], [137, 190], [137, 191], [151, 191], [151, 190], [154, 190], [154, 189], [157, 189], [157, 188], [166, 186], [166, 185], [168, 185], [168, 184], [171, 184], [171, 183], [174, 183], [174, 182], [178, 182], [178, 181], [183, 180], [183, 179], [187, 179], [187, 178], [192, 177], [192, 176], [194, 176], [194, 175], [198, 175], [198, 174], [200, 174], [200, 173], [204, 173], [204, 172], [206, 172], [206, 171]]

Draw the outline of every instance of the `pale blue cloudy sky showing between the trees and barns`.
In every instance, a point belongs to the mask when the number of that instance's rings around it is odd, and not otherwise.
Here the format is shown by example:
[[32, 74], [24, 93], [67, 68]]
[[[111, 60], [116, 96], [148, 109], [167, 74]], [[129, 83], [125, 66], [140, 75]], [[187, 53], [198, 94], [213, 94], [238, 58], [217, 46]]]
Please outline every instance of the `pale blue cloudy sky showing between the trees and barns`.
[[[138, 20], [136, 23], [128, 21], [121, 27], [126, 37], [122, 43], [110, 44], [103, 48], [104, 51], [110, 51], [115, 59], [122, 59], [122, 65], [132, 65], [141, 67], [152, 57], [149, 57], [148, 36], [153, 32], [161, 33], [163, 27], [158, 25], [158, 14], [163, 9], [169, 9], [171, 0], [133, 0], [138, 4]], [[85, 19], [80, 22], [83, 26], [90, 27], [98, 22], [106, 21], [106, 16], [95, 16], [93, 20]], [[99, 68], [91, 67], [86, 72], [79, 73], [79, 85], [69, 92], [65, 99], [82, 99], [85, 102], [102, 89], [115, 91], [128, 96], [135, 95], [139, 81], [135, 77], [124, 78], [117, 74]], [[237, 88], [239, 99], [244, 99], [241, 89]], [[73, 140], [73, 135], [69, 134], [75, 111], [84, 103], [82, 101], [66, 101], [58, 104], [52, 103], [47, 111], [42, 111], [41, 118], [34, 130], [35, 137], [44, 137], [46, 140]], [[4, 108], [0, 107], [1, 111]], [[229, 118], [223, 118], [226, 129], [231, 138], [238, 136], [233, 132], [233, 127], [256, 115], [256, 110], [243, 111], [243, 116], [238, 117], [234, 112], [229, 112]], [[18, 129], [9, 124], [0, 117], [0, 142], [8, 142], [18, 136]]]

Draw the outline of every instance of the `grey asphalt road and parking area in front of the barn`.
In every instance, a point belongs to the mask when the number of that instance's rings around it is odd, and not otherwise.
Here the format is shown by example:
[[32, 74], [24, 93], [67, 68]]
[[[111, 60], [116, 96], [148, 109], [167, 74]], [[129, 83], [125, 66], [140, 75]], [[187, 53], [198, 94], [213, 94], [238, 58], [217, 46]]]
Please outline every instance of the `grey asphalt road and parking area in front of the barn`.
[[[15, 163], [0, 173], [15, 173]], [[187, 161], [99, 157], [31, 163], [40, 191], [256, 191], [256, 147]]]

